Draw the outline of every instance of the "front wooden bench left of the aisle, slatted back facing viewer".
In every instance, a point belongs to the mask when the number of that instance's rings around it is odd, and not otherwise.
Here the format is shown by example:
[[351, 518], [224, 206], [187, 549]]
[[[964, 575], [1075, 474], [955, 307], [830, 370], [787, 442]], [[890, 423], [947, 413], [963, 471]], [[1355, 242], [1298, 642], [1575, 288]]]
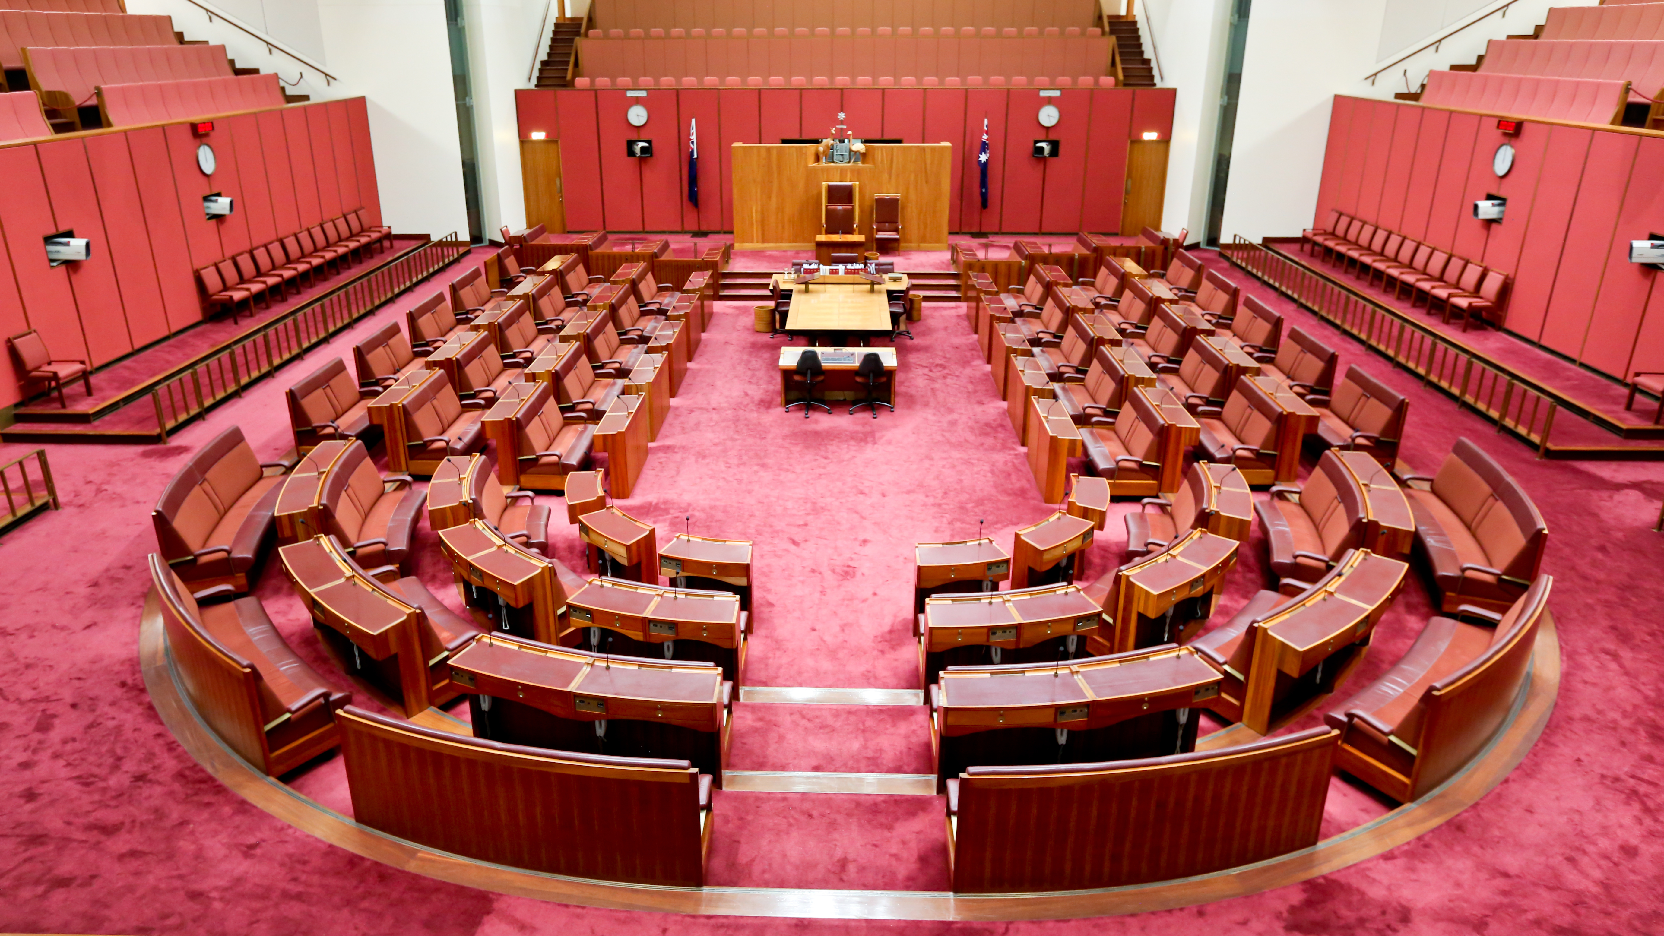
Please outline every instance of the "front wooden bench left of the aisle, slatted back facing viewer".
[[[504, 745], [356, 707], [338, 723], [353, 818], [364, 826], [547, 874], [706, 883], [712, 778], [686, 760]], [[559, 803], [582, 808], [551, 808]]]

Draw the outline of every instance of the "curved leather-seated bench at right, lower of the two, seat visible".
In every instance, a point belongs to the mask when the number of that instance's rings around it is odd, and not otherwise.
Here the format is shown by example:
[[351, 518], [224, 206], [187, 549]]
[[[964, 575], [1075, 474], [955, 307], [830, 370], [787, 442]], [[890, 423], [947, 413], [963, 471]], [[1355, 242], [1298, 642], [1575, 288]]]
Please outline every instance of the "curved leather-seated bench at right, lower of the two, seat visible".
[[1466, 766], [1514, 708], [1553, 584], [1538, 575], [1503, 613], [1428, 620], [1393, 668], [1323, 717], [1341, 732], [1335, 766], [1399, 803]]

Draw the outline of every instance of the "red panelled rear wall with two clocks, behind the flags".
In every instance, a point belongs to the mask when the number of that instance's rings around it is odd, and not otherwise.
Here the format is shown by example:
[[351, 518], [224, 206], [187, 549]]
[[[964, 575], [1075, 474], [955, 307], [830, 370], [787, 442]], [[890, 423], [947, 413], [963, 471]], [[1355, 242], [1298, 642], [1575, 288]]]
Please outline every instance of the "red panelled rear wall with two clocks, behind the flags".
[[[825, 136], [837, 115], [860, 138], [952, 143], [950, 231], [1115, 231], [1125, 196], [1127, 145], [1173, 128], [1171, 88], [652, 88], [516, 91], [521, 140], [561, 140], [571, 231], [732, 231], [732, 143]], [[642, 91], [637, 91], [641, 95]], [[624, 120], [629, 105], [647, 123]], [[1042, 105], [1062, 120], [1040, 126]], [[977, 151], [988, 121], [988, 208]], [[687, 203], [687, 126], [699, 126], [699, 206]], [[626, 155], [652, 140], [652, 158]], [[1035, 140], [1060, 156], [1037, 160]]]

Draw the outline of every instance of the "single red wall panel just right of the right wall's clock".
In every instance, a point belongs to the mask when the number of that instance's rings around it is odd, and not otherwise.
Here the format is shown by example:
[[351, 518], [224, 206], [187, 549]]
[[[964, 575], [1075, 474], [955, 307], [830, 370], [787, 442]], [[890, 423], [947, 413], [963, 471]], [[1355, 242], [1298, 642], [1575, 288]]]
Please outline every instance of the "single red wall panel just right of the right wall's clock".
[[1549, 176], [1553, 185], [1538, 186], [1538, 195], [1533, 198], [1531, 229], [1519, 249], [1519, 273], [1514, 276], [1513, 298], [1508, 301], [1506, 328], [1531, 341], [1543, 341], [1543, 323], [1548, 319], [1549, 296], [1559, 274], [1571, 211], [1577, 204], [1584, 161], [1594, 141], [1592, 130], [1572, 126], [1548, 130], [1543, 175]]

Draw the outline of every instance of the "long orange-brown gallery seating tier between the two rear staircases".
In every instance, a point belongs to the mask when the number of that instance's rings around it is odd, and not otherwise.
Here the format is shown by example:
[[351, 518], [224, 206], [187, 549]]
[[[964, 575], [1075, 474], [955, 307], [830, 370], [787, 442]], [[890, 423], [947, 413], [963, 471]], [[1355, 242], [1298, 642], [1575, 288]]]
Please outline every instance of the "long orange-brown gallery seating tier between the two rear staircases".
[[[812, 85], [850, 83], [932, 83], [932, 80], [960, 80], [980, 85], [1053, 83], [1058, 75], [1090, 76], [1098, 83], [1108, 70], [1110, 38], [1097, 28], [1082, 32], [1077, 27], [1058, 30], [1048, 27], [1045, 35], [1028, 27], [1022, 35], [1015, 28], [992, 27], [958, 30], [922, 28], [919, 35], [874, 35], [870, 28], [837, 32], [829, 28], [777, 30], [592, 30], [579, 43], [579, 67], [584, 78], [609, 80], [609, 86], [646, 81], [646, 86], [689, 86], [686, 80], [702, 80], [747, 85]], [[641, 78], [646, 76], [646, 78]], [[666, 85], [664, 80], [671, 80]], [[912, 81], [909, 81], [912, 80]], [[1058, 80], [1060, 81], [1060, 80]], [[584, 86], [584, 85], [579, 85]]]

